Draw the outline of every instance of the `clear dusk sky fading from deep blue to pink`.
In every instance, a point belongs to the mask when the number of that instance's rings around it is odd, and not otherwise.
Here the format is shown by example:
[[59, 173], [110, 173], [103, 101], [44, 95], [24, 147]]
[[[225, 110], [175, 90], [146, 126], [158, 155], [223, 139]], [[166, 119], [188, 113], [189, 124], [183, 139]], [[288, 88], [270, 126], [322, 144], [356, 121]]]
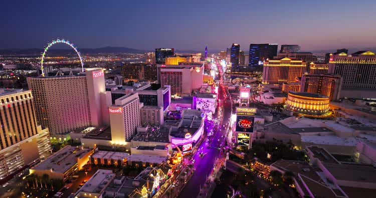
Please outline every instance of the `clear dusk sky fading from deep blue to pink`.
[[42, 48], [57, 37], [79, 48], [144, 50], [376, 46], [375, 0], [2, 0], [0, 7], [0, 48]]

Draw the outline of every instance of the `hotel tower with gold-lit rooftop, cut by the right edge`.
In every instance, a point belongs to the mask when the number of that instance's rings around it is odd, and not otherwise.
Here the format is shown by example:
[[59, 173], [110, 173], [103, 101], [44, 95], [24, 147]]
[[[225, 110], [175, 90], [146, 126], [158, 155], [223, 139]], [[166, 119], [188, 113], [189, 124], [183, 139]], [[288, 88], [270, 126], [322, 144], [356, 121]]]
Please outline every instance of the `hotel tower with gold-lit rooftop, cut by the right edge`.
[[341, 97], [376, 96], [376, 54], [372, 51], [331, 54], [329, 73], [342, 76]]

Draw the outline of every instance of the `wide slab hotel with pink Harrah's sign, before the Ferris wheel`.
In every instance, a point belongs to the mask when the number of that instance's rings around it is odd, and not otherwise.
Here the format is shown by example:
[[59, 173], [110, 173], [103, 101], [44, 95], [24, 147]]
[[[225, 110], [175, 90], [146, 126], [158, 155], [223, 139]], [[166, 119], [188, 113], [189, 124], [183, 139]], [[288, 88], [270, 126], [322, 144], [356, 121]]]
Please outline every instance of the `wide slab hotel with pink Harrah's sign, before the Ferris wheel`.
[[109, 124], [111, 92], [106, 91], [101, 68], [87, 68], [78, 75], [29, 77], [28, 84], [38, 123], [52, 135]]

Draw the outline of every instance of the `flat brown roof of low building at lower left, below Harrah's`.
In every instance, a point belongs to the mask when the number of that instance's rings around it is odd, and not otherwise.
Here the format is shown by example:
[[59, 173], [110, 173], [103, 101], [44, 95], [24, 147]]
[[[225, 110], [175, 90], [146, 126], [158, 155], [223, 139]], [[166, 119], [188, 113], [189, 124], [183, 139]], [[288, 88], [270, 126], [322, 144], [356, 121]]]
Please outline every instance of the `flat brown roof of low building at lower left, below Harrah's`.
[[69, 168], [77, 163], [77, 158], [86, 155], [91, 152], [89, 148], [77, 148], [67, 145], [55, 152], [53, 155], [47, 157], [42, 162], [38, 163], [31, 169], [47, 170], [51, 169], [54, 172], [65, 173]]

